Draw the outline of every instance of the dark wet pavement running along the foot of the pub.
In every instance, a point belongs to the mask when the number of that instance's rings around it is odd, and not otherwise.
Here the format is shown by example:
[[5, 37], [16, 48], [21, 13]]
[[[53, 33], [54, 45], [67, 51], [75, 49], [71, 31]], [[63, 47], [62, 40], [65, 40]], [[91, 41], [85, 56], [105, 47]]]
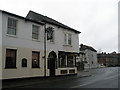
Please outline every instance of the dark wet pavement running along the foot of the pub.
[[[2, 88], [17, 88], [26, 85], [34, 85], [43, 82], [57, 81], [57, 80], [68, 80], [68, 79], [77, 79], [82, 77], [91, 76], [90, 71], [78, 71], [77, 75], [69, 76], [58, 76], [58, 77], [43, 77], [43, 78], [24, 78], [24, 79], [10, 79], [2, 81]], [[11, 83], [12, 82], [12, 83]]]

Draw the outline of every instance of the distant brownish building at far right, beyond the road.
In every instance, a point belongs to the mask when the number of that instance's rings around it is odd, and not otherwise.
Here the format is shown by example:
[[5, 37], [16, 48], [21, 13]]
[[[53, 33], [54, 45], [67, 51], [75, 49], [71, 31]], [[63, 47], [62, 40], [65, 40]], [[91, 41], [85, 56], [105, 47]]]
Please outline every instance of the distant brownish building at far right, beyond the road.
[[112, 53], [99, 53], [97, 55], [98, 58], [98, 63], [100, 66], [117, 66], [119, 65], [119, 57], [120, 55], [117, 54], [116, 52]]

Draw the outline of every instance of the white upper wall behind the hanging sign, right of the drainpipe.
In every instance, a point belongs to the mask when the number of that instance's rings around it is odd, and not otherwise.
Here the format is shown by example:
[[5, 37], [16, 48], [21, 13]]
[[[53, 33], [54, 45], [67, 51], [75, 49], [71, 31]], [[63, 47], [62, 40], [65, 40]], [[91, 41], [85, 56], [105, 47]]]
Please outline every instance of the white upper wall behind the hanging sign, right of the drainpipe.
[[[59, 28], [57, 26], [50, 25], [50, 24], [47, 24], [46, 27], [49, 27], [49, 26], [52, 26], [54, 28], [55, 42], [51, 43], [47, 41], [47, 50], [79, 52], [78, 34], [74, 33], [73, 31], [65, 30], [63, 28]], [[72, 34], [72, 45], [71, 46], [64, 46], [64, 32], [65, 31]]]

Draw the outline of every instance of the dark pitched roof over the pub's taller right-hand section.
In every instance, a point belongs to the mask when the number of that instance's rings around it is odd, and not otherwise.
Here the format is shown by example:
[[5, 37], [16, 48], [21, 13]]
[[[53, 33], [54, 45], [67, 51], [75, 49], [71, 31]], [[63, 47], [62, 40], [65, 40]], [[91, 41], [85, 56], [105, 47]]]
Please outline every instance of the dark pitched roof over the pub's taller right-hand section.
[[50, 23], [50, 24], [54, 24], [54, 25], [57, 25], [59, 27], [62, 27], [62, 28], [65, 28], [65, 29], [68, 29], [68, 30], [72, 30], [74, 31], [75, 33], [81, 33], [71, 27], [68, 27], [52, 18], [49, 18], [47, 16], [44, 16], [44, 15], [41, 15], [39, 13], [36, 13], [34, 11], [29, 11], [28, 15], [26, 16], [26, 18], [28, 19], [31, 19], [31, 20], [34, 20], [34, 21], [37, 21], [37, 22], [46, 22], [46, 23]]

